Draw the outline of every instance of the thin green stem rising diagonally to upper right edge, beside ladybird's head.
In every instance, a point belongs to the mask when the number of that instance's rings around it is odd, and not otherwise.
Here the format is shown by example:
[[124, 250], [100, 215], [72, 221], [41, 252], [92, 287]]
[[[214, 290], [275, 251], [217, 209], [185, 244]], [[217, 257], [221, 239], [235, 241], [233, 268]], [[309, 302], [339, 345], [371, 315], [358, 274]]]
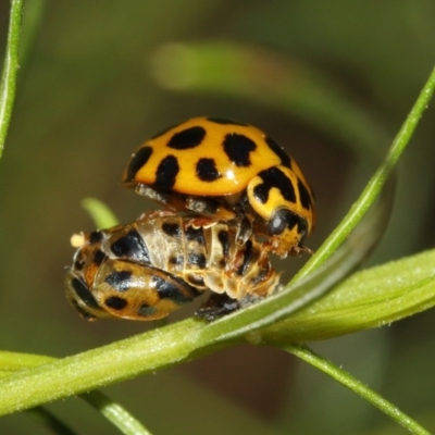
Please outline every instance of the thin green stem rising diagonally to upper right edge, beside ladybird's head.
[[420, 119], [423, 115], [424, 110], [428, 107], [434, 90], [435, 69], [432, 71], [432, 74], [424, 85], [423, 90], [420, 92], [419, 98], [412, 107], [409, 115], [405, 120], [399, 133], [395, 137], [384, 162], [376, 170], [375, 174], [365, 186], [359, 199], [355, 202], [339, 225], [318, 249], [315, 256], [313, 256], [296, 274], [294, 279], [300, 279], [319, 268], [319, 265], [323, 264], [337, 250], [337, 247], [344, 243], [352, 228], [358, 225], [370, 207], [372, 207], [406, 146], [408, 145], [417, 125], [419, 124]]

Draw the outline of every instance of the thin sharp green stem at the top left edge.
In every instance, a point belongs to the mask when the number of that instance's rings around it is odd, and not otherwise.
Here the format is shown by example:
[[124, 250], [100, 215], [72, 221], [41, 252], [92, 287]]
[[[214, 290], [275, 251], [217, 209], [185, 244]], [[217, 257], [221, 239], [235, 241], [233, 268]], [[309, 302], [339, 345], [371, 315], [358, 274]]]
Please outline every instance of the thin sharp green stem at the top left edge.
[[4, 141], [15, 99], [16, 73], [20, 67], [18, 46], [22, 8], [23, 0], [11, 0], [8, 44], [0, 84], [0, 159], [3, 153]]

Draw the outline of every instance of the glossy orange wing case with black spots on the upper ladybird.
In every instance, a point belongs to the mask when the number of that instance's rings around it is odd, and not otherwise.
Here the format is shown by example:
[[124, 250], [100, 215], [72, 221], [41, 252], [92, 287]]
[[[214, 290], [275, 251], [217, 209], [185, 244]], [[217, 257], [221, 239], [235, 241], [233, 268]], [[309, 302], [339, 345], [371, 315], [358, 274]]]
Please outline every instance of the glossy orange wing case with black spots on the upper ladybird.
[[[259, 171], [282, 163], [259, 128], [212, 120], [188, 120], [145, 142], [132, 157], [124, 183], [226, 196], [243, 190]], [[196, 128], [202, 134], [191, 134]]]

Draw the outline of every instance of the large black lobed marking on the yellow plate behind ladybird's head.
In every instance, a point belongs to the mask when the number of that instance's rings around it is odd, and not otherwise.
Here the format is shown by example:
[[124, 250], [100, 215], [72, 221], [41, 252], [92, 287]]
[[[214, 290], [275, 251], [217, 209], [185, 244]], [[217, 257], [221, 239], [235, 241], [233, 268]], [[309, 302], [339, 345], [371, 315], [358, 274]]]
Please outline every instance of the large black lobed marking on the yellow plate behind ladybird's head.
[[291, 179], [289, 179], [278, 167], [269, 167], [269, 170], [261, 171], [258, 175], [261, 177], [263, 183], [260, 183], [253, 188], [253, 196], [261, 203], [268, 202], [269, 192], [273, 187], [279, 189], [279, 192], [285, 200], [296, 202], [296, 194]]

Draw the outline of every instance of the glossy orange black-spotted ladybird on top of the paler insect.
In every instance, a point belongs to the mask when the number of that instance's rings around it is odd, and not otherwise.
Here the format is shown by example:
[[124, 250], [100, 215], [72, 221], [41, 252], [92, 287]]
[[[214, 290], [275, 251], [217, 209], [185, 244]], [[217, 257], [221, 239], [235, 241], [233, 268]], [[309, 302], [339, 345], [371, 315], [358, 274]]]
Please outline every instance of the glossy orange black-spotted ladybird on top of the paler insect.
[[252, 125], [195, 117], [160, 132], [132, 156], [123, 183], [167, 210], [237, 220], [239, 241], [253, 232], [283, 258], [310, 251], [312, 190], [295, 160]]

